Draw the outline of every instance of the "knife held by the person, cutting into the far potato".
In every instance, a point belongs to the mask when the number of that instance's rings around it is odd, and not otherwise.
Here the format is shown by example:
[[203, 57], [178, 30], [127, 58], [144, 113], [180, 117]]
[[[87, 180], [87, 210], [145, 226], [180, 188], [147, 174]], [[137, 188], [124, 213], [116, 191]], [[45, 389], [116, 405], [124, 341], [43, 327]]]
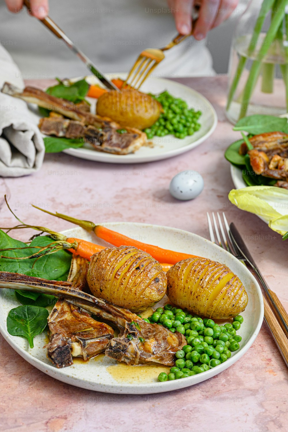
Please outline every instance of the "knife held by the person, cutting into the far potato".
[[[24, 4], [27, 7], [28, 11], [31, 11], [31, 5], [29, 0], [24, 0]], [[55, 36], [59, 39], [63, 39], [67, 47], [70, 48], [71, 51], [73, 51], [74, 54], [76, 54], [77, 57], [79, 57], [80, 60], [82, 60], [83, 63], [88, 67], [89, 70], [93, 73], [93, 75], [97, 76], [97, 78], [101, 81], [101, 83], [104, 84], [108, 89], [111, 90], [117, 90], [119, 92], [120, 90], [108, 79], [105, 78], [103, 73], [101, 73], [95, 66], [95, 64], [92, 63], [91, 60], [87, 56], [85, 56], [82, 51], [77, 48], [73, 42], [68, 38], [68, 36], [65, 35], [65, 33], [58, 27], [58, 25], [49, 17], [47, 16], [44, 19], [40, 19], [40, 22], [42, 22], [46, 27], [54, 33]]]

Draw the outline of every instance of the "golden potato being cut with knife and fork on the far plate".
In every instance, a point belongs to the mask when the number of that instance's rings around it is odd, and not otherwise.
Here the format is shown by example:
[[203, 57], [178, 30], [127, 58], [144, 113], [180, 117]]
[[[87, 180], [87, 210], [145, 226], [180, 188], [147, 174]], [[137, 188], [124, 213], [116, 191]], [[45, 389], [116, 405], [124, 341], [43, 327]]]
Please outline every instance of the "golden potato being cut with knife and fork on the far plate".
[[134, 89], [111, 90], [101, 95], [96, 105], [96, 112], [101, 117], [141, 130], [155, 123], [161, 109], [160, 103], [152, 96]]

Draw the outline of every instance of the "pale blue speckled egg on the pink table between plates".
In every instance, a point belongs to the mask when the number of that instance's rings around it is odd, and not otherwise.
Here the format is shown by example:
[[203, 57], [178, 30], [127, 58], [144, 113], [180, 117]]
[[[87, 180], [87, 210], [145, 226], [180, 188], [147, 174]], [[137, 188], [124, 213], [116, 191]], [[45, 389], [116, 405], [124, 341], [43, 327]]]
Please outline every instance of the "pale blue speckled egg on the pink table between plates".
[[204, 181], [199, 172], [188, 170], [175, 175], [170, 182], [169, 191], [177, 200], [193, 200], [203, 191]]

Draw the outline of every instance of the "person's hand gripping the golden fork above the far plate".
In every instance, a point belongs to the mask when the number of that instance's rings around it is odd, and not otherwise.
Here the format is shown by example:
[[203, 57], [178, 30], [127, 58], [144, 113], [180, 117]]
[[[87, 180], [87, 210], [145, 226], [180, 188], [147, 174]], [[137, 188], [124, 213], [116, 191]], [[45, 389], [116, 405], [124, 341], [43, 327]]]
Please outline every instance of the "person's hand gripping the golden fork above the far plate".
[[176, 28], [182, 35], [188, 35], [192, 30], [191, 16], [194, 4], [198, 4], [200, 9], [193, 36], [200, 41], [206, 37], [209, 30], [217, 27], [231, 15], [238, 0], [168, 0]]

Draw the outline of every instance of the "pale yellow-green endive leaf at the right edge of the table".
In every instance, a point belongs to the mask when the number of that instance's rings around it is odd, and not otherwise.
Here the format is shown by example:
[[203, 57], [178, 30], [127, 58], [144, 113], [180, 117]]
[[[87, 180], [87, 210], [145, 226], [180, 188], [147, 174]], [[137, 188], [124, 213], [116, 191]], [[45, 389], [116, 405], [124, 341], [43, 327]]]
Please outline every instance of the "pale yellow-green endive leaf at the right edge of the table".
[[228, 198], [239, 209], [262, 217], [279, 234], [288, 231], [288, 190], [275, 186], [249, 186], [232, 189]]

